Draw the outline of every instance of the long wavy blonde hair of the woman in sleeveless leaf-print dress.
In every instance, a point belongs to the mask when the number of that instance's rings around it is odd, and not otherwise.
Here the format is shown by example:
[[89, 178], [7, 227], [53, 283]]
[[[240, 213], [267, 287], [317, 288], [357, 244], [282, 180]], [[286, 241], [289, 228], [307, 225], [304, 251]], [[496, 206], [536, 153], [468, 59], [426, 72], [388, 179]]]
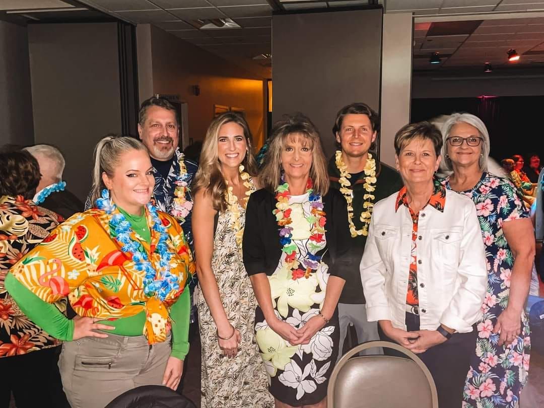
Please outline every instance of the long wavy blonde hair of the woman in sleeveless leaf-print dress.
[[200, 189], [204, 189], [205, 194], [211, 194], [213, 208], [218, 212], [224, 212], [227, 208], [227, 203], [225, 201], [227, 184], [225, 182], [225, 177], [221, 172], [217, 139], [221, 126], [231, 122], [242, 126], [242, 129], [244, 130], [248, 149], [246, 150], [244, 160], [242, 160], [242, 165], [250, 176], [255, 177], [257, 175], [257, 162], [253, 156], [251, 131], [248, 122], [245, 121], [243, 116], [233, 112], [219, 115], [212, 123], [210, 123], [208, 131], [206, 132], [206, 138], [204, 139], [202, 152], [200, 153], [199, 169], [196, 172], [195, 184], [193, 186], [194, 194]]

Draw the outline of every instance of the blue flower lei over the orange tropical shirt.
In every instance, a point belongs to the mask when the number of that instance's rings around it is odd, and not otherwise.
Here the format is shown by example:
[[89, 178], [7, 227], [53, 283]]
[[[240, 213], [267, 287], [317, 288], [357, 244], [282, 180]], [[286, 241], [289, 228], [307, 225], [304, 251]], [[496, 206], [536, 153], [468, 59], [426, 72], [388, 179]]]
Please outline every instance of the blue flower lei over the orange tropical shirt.
[[[96, 200], [96, 207], [102, 209], [107, 214], [112, 214], [117, 208], [110, 199], [108, 190], [102, 190], [102, 198]], [[172, 290], [177, 291], [180, 289], [180, 278], [170, 273], [170, 259], [172, 258], [172, 254], [166, 244], [168, 233], [166, 233], [166, 228], [160, 221], [157, 208], [151, 202], [147, 203], [146, 207], [153, 220], [151, 228], [159, 234], [159, 240], [155, 249], [160, 258], [159, 273], [153, 268], [146, 252], [140, 250], [141, 244], [131, 238], [132, 227], [130, 222], [125, 218], [125, 215], [120, 212], [113, 214], [109, 225], [110, 229], [115, 231], [115, 239], [122, 245], [121, 249], [123, 252], [132, 254], [134, 268], [138, 271], [144, 271], [144, 294], [148, 298], [155, 296], [164, 302], [166, 296]], [[157, 276], [160, 276], [160, 279], [156, 279]]]

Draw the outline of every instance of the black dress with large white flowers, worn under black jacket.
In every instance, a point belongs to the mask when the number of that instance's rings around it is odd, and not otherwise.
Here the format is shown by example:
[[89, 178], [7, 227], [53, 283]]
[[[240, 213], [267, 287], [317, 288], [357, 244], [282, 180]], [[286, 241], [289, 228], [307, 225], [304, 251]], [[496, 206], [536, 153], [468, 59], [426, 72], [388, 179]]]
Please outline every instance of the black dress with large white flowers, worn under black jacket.
[[[295, 279], [291, 264], [285, 256], [280, 257], [276, 270], [268, 280], [272, 303], [277, 318], [300, 329], [310, 318], [319, 314], [325, 299], [329, 280], [329, 267], [316, 262], [323, 255], [327, 242], [325, 234], [316, 240], [311, 236], [312, 216], [308, 194], [289, 196], [288, 208], [293, 227], [292, 242], [298, 250], [296, 261], [304, 265], [306, 279]], [[255, 330], [267, 373], [270, 378], [270, 393], [292, 406], [317, 404], [327, 393], [327, 384], [338, 355], [340, 338], [338, 312], [319, 330], [309, 344], [290, 345], [272, 330], [257, 307]]]

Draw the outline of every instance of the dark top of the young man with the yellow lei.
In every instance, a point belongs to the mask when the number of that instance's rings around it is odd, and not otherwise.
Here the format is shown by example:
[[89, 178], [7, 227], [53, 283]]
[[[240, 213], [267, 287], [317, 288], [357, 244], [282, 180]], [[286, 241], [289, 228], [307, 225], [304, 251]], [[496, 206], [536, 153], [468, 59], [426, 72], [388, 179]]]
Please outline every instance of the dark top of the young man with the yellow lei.
[[[374, 156], [375, 157], [375, 156]], [[354, 177], [355, 176], [355, 177]], [[331, 187], [340, 189], [340, 171], [336, 167], [335, 156], [332, 156], [329, 161], [329, 178], [331, 181]], [[363, 195], [366, 193], [364, 189], [364, 172], [359, 172], [355, 175], [351, 175], [351, 186], [353, 190], [353, 202], [354, 209], [353, 224], [357, 230], [362, 227], [362, 222], [359, 219], [361, 211], [363, 209]], [[403, 181], [396, 170], [387, 164], [378, 162], [376, 163], [376, 190], [374, 191], [374, 204], [393, 193], [396, 193], [403, 187]], [[348, 213], [345, 214], [348, 217]], [[367, 237], [364, 235], [358, 235], [355, 238], [351, 238], [351, 244], [353, 244], [350, 254], [355, 257], [352, 259], [353, 269], [349, 271], [344, 277], [345, 285], [340, 296], [340, 303], [348, 304], [364, 304], [363, 285], [361, 283], [361, 273], [359, 271], [359, 264], [363, 256], [364, 244], [367, 241]]]

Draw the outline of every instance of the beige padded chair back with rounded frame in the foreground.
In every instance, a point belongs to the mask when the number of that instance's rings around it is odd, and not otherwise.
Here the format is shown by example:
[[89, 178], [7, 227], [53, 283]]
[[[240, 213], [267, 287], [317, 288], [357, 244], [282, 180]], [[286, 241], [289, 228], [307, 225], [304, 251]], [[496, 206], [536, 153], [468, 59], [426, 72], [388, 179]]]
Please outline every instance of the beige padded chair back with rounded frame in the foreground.
[[[373, 347], [400, 351], [408, 358], [387, 355], [350, 358]], [[391, 342], [359, 344], [344, 354], [327, 388], [329, 408], [438, 408], [429, 369], [412, 351]]]

